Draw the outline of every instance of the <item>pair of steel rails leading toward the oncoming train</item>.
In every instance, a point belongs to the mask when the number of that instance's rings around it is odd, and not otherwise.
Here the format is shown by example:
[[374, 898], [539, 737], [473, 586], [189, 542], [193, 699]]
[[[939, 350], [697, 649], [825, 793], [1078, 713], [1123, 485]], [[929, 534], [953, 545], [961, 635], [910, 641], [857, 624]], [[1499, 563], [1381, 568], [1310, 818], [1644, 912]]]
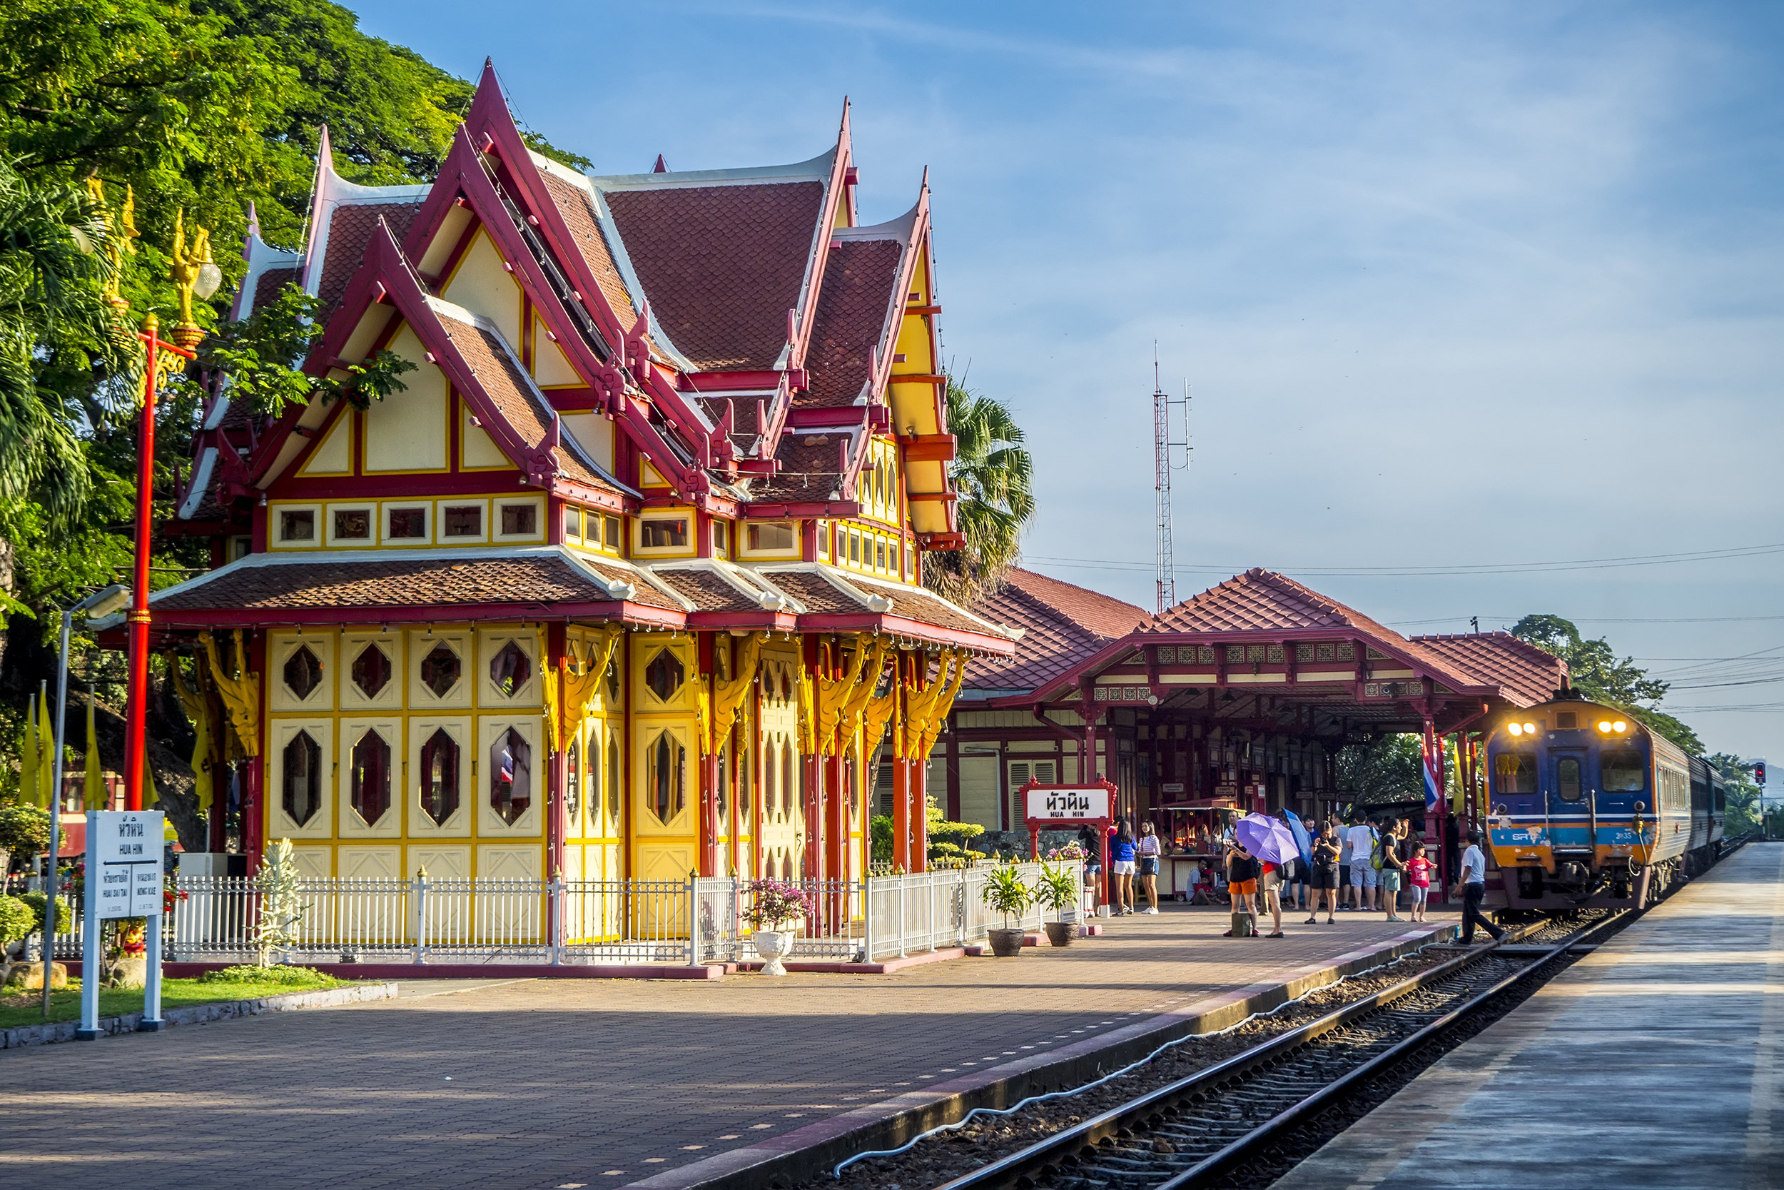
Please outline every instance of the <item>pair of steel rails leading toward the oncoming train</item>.
[[[1167, 1190], [1167, 1188], [1183, 1190], [1183, 1186], [1193, 1185], [1192, 1176], [1195, 1179], [1206, 1179], [1242, 1161], [1249, 1153], [1256, 1149], [1256, 1145], [1268, 1140], [1270, 1136], [1279, 1135], [1288, 1126], [1290, 1115], [1295, 1120], [1302, 1119], [1309, 1110], [1317, 1110], [1320, 1103], [1329, 1099], [1336, 1088], [1349, 1087], [1358, 1078], [1367, 1078], [1367, 1074], [1363, 1072], [1379, 1070], [1383, 1067], [1383, 1062], [1388, 1060], [1390, 1054], [1393, 1056], [1393, 1060], [1404, 1056], [1413, 1038], [1418, 1038], [1418, 1044], [1429, 1040], [1433, 1026], [1436, 1026], [1438, 1022], [1441, 1022], [1443, 1028], [1452, 1026], [1459, 1015], [1474, 1012], [1483, 1001], [1502, 994], [1509, 985], [1527, 978], [1538, 967], [1550, 962], [1557, 954], [1566, 953], [1568, 947], [1581, 946], [1591, 935], [1607, 930], [1615, 924], [1627, 922], [1629, 917], [1631, 913], [1627, 912], [1618, 913], [1615, 917], [1591, 922], [1584, 930], [1570, 933], [1566, 938], [1549, 947], [1541, 958], [1525, 963], [1513, 974], [1506, 976], [1504, 979], [1499, 979], [1486, 992], [1470, 997], [1466, 1004], [1447, 1012], [1436, 1022], [1420, 1028], [1416, 1033], [1411, 1035], [1411, 1038], [1397, 1042], [1392, 1049], [1384, 1051], [1383, 1054], [1377, 1054], [1375, 1058], [1370, 1058], [1354, 1070], [1345, 1072], [1336, 1081], [1329, 1083], [1318, 1092], [1313, 1092], [1311, 1095], [1299, 1101], [1297, 1104], [1279, 1113], [1277, 1117], [1272, 1117], [1265, 1124], [1260, 1124], [1256, 1129], [1235, 1140], [1233, 1144], [1226, 1145], [1224, 1149], [1206, 1158], [1204, 1161], [1190, 1167], [1188, 1170], [1183, 1170], [1181, 1174], [1172, 1176], [1169, 1181], [1161, 1181], [1152, 1190]], [[1536, 930], [1541, 930], [1541, 926], [1538, 926]], [[1233, 1079], [1235, 1076], [1243, 1076], [1260, 1067], [1267, 1067], [1274, 1063], [1277, 1058], [1284, 1058], [1288, 1053], [1299, 1049], [1301, 1045], [1317, 1040], [1318, 1037], [1324, 1037], [1326, 1033], [1331, 1033], [1334, 1029], [1342, 1029], [1347, 1024], [1390, 1004], [1392, 1001], [1409, 996], [1440, 979], [1447, 979], [1458, 971], [1463, 971], [1466, 967], [1479, 963], [1484, 958], [1490, 958], [1499, 949], [1499, 946], [1500, 946], [1499, 942], [1491, 942], [1479, 949], [1458, 954], [1456, 958], [1445, 963], [1438, 963], [1429, 971], [1422, 971], [1416, 976], [1402, 979], [1393, 987], [1383, 988], [1379, 992], [1374, 992], [1372, 996], [1345, 1004], [1343, 1008], [1338, 1008], [1320, 1017], [1318, 1021], [1309, 1021], [1308, 1024], [1297, 1026], [1288, 1033], [1283, 1033], [1267, 1042], [1252, 1045], [1243, 1053], [1217, 1062], [1211, 1067], [1188, 1074], [1174, 1083], [1167, 1083], [1165, 1087], [1158, 1087], [1151, 1092], [1145, 1092], [1136, 1099], [1117, 1104], [1108, 1111], [1103, 1111], [1101, 1115], [1095, 1115], [1088, 1120], [1065, 1128], [1058, 1133], [1053, 1133], [1051, 1136], [1044, 1136], [1042, 1140], [1024, 1149], [1010, 1153], [969, 1174], [962, 1174], [960, 1178], [946, 1181], [940, 1186], [937, 1186], [937, 1190], [992, 1190], [1003, 1186], [1015, 1186], [1020, 1185], [1024, 1179], [1033, 1183], [1035, 1181], [1033, 1174], [1045, 1170], [1049, 1167], [1063, 1165], [1074, 1154], [1085, 1149], [1094, 1149], [1104, 1140], [1117, 1138], [1120, 1133], [1131, 1131], [1136, 1126], [1144, 1128], [1145, 1124], [1151, 1122], [1152, 1117], [1156, 1117], [1167, 1108], [1176, 1106], [1179, 1101], [1188, 1099], [1190, 1095], [1195, 1095], [1204, 1090], [1213, 1090], [1222, 1083]]]

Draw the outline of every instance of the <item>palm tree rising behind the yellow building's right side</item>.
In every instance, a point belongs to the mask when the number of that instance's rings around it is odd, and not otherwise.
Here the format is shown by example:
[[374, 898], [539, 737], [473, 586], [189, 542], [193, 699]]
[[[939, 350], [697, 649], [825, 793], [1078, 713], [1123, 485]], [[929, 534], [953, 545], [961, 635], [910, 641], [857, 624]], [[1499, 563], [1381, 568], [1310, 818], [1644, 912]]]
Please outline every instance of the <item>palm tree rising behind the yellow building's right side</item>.
[[1003, 573], [1020, 557], [1022, 528], [1035, 516], [1033, 460], [1010, 407], [953, 376], [947, 430], [956, 439], [949, 478], [960, 494], [965, 548], [931, 553], [922, 580], [954, 603], [972, 603], [997, 591]]

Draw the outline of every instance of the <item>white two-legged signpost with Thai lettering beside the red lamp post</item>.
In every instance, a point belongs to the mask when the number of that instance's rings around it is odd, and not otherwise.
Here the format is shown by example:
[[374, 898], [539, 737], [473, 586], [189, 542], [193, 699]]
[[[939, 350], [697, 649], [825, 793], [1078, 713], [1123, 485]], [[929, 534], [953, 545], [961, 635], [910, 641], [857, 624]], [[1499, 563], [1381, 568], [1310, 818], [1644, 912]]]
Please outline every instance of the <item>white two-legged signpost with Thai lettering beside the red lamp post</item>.
[[143, 979], [139, 1033], [159, 1033], [161, 1019], [161, 862], [166, 815], [161, 810], [87, 814], [87, 887], [82, 926], [80, 1028], [75, 1038], [100, 1037], [100, 922], [148, 919], [148, 972]]

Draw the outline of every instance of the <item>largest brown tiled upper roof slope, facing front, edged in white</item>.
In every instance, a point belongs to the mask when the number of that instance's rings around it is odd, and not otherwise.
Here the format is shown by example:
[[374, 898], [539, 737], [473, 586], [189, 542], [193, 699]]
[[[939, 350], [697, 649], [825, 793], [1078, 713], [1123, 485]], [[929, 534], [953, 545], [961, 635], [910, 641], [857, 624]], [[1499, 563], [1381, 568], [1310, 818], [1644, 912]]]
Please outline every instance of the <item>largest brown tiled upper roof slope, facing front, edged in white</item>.
[[607, 191], [657, 325], [708, 371], [780, 360], [822, 202], [814, 180]]

